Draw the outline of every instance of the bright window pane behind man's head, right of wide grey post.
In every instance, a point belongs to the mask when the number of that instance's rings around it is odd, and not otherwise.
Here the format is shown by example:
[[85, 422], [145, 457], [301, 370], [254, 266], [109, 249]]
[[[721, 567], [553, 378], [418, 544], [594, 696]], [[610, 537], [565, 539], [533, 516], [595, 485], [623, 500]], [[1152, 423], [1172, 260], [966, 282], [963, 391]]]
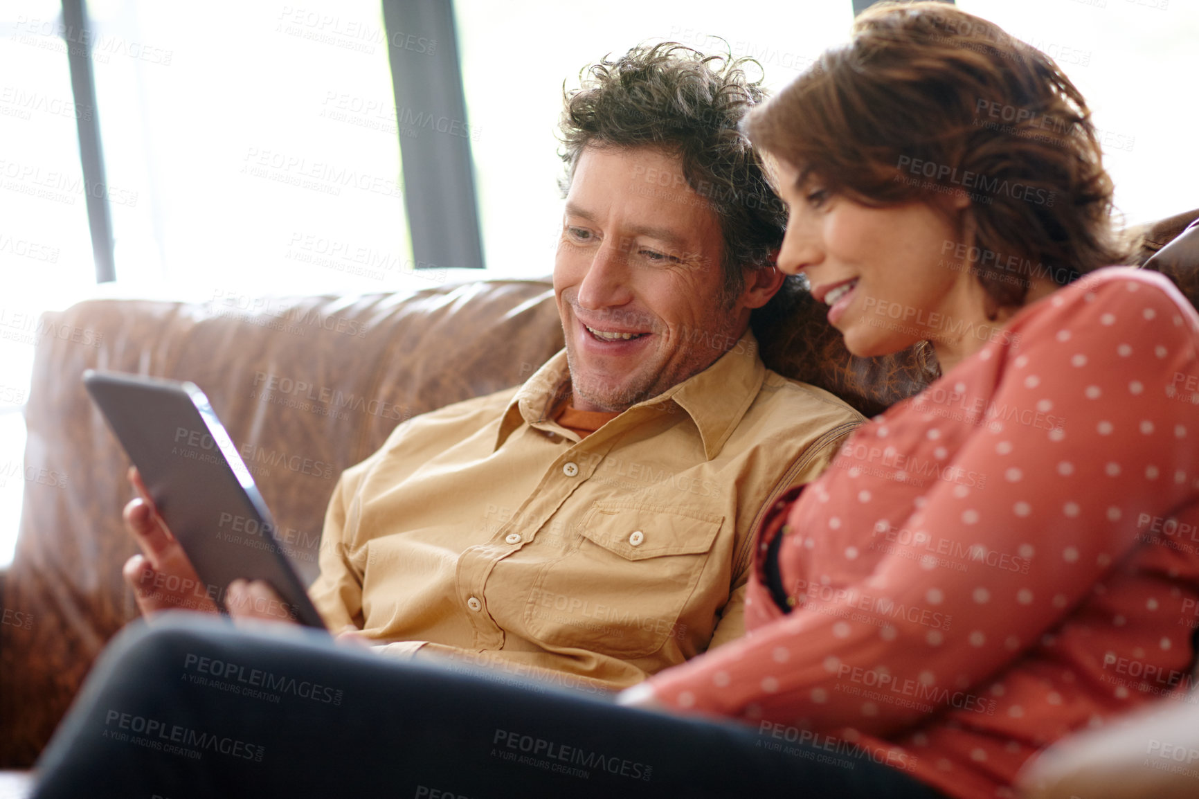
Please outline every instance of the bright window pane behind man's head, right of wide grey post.
[[564, 80], [572, 89], [579, 70], [605, 54], [669, 40], [757, 58], [767, 85], [781, 89], [829, 43], [844, 38], [854, 19], [849, 0], [751, 6], [614, 0], [602, 7], [456, 0], [454, 7], [466, 113], [477, 132], [471, 146], [484, 260], [490, 274], [520, 277], [542, 277], [554, 268], [562, 218], [556, 131]]

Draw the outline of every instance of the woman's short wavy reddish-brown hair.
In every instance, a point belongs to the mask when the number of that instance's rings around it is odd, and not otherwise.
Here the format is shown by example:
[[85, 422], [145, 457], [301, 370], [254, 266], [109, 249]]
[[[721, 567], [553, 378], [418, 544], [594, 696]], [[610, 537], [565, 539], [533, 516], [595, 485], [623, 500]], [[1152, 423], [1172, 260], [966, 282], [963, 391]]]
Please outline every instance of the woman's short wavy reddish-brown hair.
[[743, 127], [866, 205], [950, 214], [946, 197], [966, 192], [964, 263], [996, 306], [1023, 305], [1034, 275], [1066, 284], [1123, 260], [1083, 95], [1052, 58], [951, 5], [873, 6]]

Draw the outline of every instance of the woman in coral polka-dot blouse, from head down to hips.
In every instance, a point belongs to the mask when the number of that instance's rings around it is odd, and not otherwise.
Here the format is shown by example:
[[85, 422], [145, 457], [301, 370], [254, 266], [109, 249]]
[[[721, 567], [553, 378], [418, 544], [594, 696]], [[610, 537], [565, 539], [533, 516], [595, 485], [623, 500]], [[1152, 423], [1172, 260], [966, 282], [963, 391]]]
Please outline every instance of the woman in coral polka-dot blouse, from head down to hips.
[[1173, 386], [1199, 373], [1199, 317], [1158, 275], [1099, 269], [1086, 104], [990, 23], [872, 8], [745, 126], [790, 208], [779, 269], [855, 355], [927, 341], [942, 377], [764, 522], [747, 638], [625, 701], [1011, 795], [1041, 747], [1189, 685], [1199, 414]]

